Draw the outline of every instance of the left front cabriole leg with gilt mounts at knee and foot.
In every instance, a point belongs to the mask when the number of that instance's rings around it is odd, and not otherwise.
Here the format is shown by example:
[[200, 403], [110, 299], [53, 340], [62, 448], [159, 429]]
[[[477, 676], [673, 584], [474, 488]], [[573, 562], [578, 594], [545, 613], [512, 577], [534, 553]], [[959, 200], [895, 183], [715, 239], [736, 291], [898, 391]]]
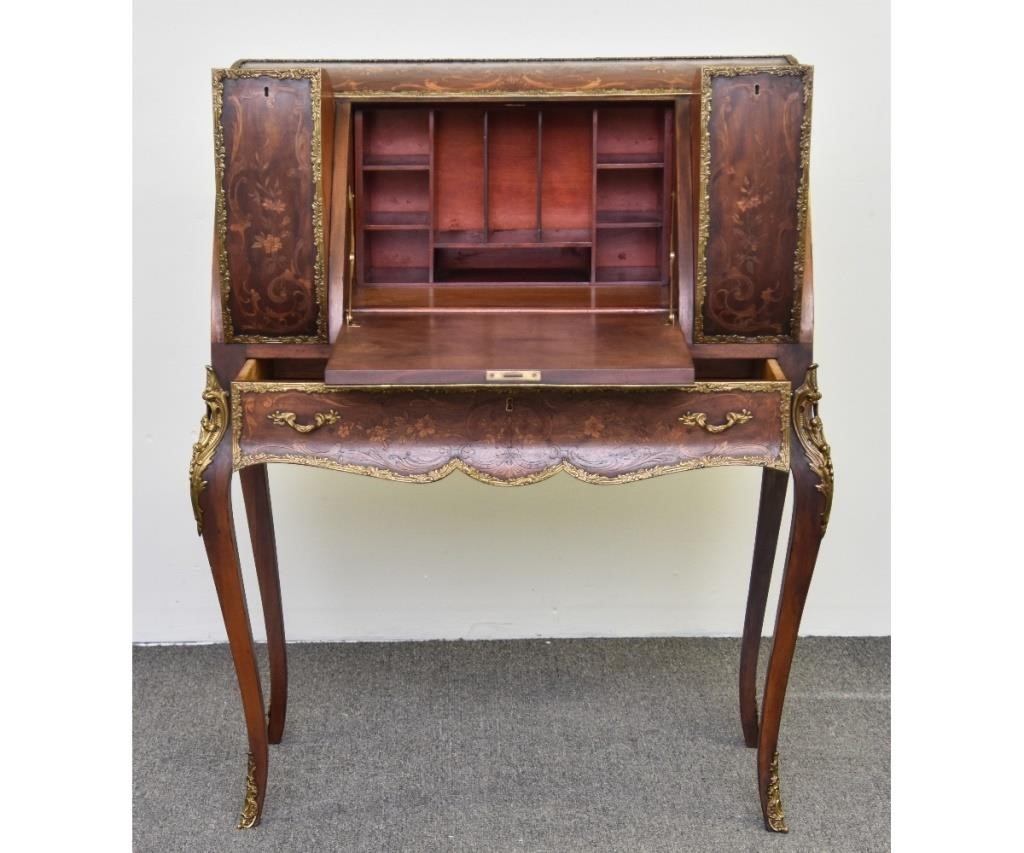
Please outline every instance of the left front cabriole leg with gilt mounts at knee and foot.
[[263, 693], [231, 517], [231, 445], [230, 441], [221, 440], [228, 425], [227, 394], [210, 368], [207, 368], [203, 399], [207, 403], [207, 414], [201, 423], [199, 440], [193, 447], [189, 483], [196, 523], [210, 560], [242, 693], [242, 709], [249, 735], [249, 766], [239, 828], [249, 828], [259, 822], [263, 810], [267, 736]]

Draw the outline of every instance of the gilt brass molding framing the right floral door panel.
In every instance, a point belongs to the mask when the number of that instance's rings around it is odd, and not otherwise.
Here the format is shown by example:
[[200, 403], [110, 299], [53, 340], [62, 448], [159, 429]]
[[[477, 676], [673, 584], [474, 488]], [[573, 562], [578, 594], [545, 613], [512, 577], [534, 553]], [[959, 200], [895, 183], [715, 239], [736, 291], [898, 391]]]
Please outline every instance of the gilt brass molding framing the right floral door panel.
[[[711, 110], [712, 80], [715, 77], [743, 77], [768, 74], [774, 77], [801, 77], [804, 83], [804, 115], [800, 124], [800, 183], [797, 188], [797, 247], [793, 259], [793, 308], [788, 335], [706, 335], [703, 304], [708, 291], [708, 241], [711, 236]], [[808, 176], [811, 162], [811, 91], [813, 69], [810, 66], [705, 66], [700, 70], [700, 162], [697, 186], [697, 274], [693, 294], [694, 343], [793, 343], [800, 332], [800, 314], [807, 255]]]

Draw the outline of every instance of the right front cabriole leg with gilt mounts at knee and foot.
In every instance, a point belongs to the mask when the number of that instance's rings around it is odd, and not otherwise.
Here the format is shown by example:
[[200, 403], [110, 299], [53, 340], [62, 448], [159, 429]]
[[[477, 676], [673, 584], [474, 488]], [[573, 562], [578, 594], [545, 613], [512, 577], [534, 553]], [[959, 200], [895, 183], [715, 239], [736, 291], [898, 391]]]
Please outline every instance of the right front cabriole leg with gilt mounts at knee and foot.
[[768, 658], [758, 738], [761, 809], [765, 826], [776, 833], [788, 830], [782, 809], [777, 752], [782, 703], [818, 546], [828, 524], [835, 479], [831, 453], [817, 412], [820, 398], [817, 366], [812, 365], [807, 371], [804, 384], [797, 389], [793, 399], [793, 433], [796, 439], [792, 454], [793, 524], [779, 592], [778, 613], [775, 617], [775, 635], [771, 656]]

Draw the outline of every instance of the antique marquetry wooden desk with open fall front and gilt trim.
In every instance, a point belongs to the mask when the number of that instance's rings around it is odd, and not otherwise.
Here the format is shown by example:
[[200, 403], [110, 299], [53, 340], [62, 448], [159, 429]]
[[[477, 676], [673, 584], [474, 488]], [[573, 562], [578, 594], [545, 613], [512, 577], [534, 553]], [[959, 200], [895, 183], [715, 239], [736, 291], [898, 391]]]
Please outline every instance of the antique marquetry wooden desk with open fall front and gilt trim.
[[811, 69], [788, 56], [246, 60], [213, 73], [213, 364], [189, 481], [248, 729], [240, 826], [259, 821], [287, 700], [267, 463], [501, 485], [755, 465], [739, 711], [765, 824], [785, 831], [779, 719], [833, 496], [811, 364]]

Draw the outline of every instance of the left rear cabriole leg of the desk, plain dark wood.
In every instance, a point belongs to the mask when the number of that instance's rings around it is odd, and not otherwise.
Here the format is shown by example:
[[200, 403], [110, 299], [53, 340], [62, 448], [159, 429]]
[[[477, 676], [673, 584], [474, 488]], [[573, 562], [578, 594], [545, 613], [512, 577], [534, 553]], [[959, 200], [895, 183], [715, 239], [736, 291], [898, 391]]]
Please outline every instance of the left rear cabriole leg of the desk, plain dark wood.
[[266, 624], [267, 656], [270, 659], [270, 712], [267, 739], [280, 743], [285, 733], [288, 710], [288, 656], [285, 648], [285, 616], [281, 604], [281, 577], [278, 572], [278, 546], [273, 537], [270, 486], [265, 465], [253, 465], [239, 471], [242, 497], [249, 519], [249, 538], [253, 544], [256, 578], [263, 602]]

